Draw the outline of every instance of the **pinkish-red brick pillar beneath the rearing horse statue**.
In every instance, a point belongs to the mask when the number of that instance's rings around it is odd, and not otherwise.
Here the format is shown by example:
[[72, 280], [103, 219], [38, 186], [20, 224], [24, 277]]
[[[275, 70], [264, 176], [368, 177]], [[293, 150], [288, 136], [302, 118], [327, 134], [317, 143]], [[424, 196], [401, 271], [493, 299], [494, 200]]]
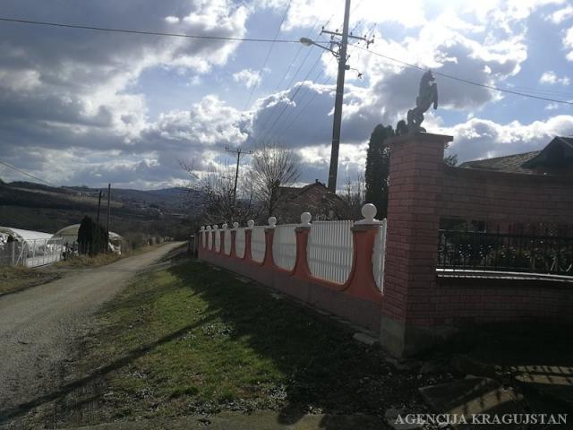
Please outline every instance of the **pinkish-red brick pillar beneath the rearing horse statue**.
[[435, 320], [438, 197], [444, 148], [451, 136], [406, 134], [389, 139], [390, 172], [381, 343], [396, 356], [430, 346]]

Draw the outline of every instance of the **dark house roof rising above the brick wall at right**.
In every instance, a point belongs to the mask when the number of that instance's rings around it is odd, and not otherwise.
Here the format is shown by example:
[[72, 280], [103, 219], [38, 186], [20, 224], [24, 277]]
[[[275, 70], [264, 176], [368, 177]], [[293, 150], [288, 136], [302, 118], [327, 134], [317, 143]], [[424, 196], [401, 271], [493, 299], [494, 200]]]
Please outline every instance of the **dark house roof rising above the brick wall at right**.
[[543, 150], [466, 161], [459, 167], [526, 175], [573, 176], [573, 137], [556, 136]]

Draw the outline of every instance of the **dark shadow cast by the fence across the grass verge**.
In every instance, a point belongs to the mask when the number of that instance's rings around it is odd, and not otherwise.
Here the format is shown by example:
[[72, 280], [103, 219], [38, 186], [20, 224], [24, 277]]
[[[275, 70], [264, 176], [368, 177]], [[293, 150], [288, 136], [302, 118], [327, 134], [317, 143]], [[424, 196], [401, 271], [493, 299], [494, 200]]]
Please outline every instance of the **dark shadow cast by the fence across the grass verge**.
[[[286, 405], [280, 424], [295, 424], [304, 414], [366, 414], [381, 417], [386, 408], [418, 396], [415, 381], [393, 377], [379, 347], [352, 339], [353, 332], [329, 317], [270, 294], [269, 288], [235, 279], [200, 262], [169, 269], [214, 314], [233, 327], [232, 340], [248, 346], [286, 374]], [[338, 423], [338, 424], [337, 424]], [[324, 428], [341, 428], [325, 419]]]

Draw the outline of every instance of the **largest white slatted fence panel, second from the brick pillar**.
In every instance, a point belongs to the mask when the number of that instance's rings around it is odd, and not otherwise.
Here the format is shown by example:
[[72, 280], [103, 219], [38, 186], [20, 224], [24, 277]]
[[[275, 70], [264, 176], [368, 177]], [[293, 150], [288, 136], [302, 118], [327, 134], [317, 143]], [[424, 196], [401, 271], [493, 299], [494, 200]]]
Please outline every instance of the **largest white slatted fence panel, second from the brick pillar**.
[[344, 284], [352, 269], [354, 221], [317, 221], [311, 226], [307, 254], [311, 273]]

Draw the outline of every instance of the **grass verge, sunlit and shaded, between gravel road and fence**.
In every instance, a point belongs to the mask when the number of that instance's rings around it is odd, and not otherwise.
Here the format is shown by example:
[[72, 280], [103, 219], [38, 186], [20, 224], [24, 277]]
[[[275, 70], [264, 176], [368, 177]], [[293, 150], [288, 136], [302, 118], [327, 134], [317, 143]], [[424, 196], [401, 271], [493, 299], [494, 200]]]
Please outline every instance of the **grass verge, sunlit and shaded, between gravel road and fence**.
[[139, 276], [98, 318], [82, 368], [103, 367], [103, 420], [222, 409], [381, 415], [417, 396], [379, 348], [201, 262]]

